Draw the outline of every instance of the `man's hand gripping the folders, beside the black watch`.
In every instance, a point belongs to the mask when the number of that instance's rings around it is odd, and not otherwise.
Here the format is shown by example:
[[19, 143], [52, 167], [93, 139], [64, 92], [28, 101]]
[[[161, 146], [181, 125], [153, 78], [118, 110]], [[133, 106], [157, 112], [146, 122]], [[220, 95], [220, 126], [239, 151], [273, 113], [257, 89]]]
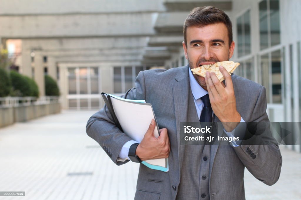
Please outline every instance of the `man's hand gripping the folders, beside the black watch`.
[[139, 156], [141, 160], [168, 158], [169, 156], [170, 143], [167, 129], [160, 129], [160, 136], [156, 138], [154, 136], [155, 127], [155, 120], [152, 120], [144, 138], [137, 146], [136, 155]]

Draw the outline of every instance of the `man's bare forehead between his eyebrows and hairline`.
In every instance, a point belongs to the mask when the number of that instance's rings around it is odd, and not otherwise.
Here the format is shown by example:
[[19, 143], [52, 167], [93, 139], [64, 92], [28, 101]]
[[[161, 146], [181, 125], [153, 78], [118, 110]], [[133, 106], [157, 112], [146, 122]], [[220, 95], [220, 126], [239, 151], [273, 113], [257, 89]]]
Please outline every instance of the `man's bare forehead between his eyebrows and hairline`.
[[192, 40], [210, 41], [222, 39], [228, 42], [228, 30], [224, 23], [209, 24], [202, 27], [190, 26], [186, 29], [187, 43]]

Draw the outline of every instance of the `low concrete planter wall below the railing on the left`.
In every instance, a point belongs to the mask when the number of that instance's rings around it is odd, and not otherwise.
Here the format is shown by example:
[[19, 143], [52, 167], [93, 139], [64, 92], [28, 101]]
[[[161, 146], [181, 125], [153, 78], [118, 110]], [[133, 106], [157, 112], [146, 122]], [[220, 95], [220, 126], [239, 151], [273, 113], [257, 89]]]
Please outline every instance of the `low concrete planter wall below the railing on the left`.
[[0, 108], [0, 127], [60, 112], [60, 103]]

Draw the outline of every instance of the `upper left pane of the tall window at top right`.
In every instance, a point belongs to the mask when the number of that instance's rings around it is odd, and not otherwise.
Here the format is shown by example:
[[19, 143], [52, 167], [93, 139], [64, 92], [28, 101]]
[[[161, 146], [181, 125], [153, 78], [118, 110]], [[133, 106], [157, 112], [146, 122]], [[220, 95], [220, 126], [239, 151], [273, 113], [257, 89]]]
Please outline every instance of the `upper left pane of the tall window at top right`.
[[259, 3], [260, 49], [268, 48], [268, 2]]

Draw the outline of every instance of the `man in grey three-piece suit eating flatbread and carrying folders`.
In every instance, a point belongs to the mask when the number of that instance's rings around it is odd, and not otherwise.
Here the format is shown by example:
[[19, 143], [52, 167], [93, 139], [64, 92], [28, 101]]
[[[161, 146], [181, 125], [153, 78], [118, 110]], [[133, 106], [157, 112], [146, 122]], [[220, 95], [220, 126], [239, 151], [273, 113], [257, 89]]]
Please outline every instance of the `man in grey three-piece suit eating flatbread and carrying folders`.
[[223, 11], [212, 6], [194, 8], [185, 20], [184, 39], [189, 66], [141, 71], [135, 88], [124, 95], [152, 104], [161, 128], [158, 138], [152, 121], [141, 143], [135, 144], [116, 128], [106, 106], [88, 120], [87, 133], [117, 165], [129, 161], [133, 149], [141, 160], [169, 158], [168, 172], [140, 164], [135, 199], [245, 199], [245, 167], [267, 185], [279, 178], [282, 157], [272, 136], [262, 137], [270, 145], [180, 145], [180, 122], [213, 117], [231, 137], [240, 122], [268, 122], [265, 88], [230, 76], [223, 67], [219, 69], [225, 83], [215, 74], [203, 78], [191, 73], [190, 68], [232, 57], [232, 25]]

